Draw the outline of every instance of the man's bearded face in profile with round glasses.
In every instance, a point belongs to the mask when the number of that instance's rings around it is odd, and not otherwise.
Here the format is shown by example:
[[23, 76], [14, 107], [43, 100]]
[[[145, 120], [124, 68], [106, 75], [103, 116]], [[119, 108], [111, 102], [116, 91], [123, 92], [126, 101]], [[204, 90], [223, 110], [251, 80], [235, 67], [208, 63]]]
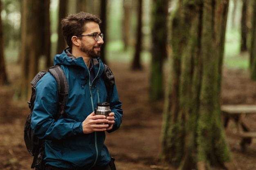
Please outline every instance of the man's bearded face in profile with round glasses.
[[[101, 44], [104, 43], [101, 36], [99, 36], [99, 39], [95, 41], [94, 39], [94, 33], [100, 34], [101, 30], [99, 29], [99, 24], [96, 22], [88, 22], [86, 25], [86, 31], [83, 32], [83, 36], [81, 39], [81, 45], [79, 49], [85, 53], [88, 57], [91, 58], [97, 58], [100, 57], [100, 51], [101, 51]], [[96, 35], [97, 36], [97, 35]]]

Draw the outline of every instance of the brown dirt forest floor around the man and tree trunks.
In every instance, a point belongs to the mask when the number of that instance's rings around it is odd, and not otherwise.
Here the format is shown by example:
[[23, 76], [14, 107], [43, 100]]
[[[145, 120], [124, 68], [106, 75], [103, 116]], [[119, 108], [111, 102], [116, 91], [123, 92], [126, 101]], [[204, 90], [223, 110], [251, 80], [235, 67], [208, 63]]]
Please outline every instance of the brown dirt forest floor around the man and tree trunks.
[[[128, 64], [109, 64], [115, 74], [124, 117], [121, 128], [107, 134], [106, 145], [116, 158], [117, 170], [153, 170], [171, 167], [160, 166], [157, 161], [162, 126], [163, 102], [148, 101], [148, 70], [129, 70]], [[11, 102], [18, 80], [15, 64], [7, 67], [12, 88], [0, 88], [0, 170], [29, 170], [33, 157], [23, 141], [23, 126], [29, 108], [26, 101]], [[246, 71], [223, 71], [223, 104], [256, 104], [256, 82], [249, 79]], [[250, 129], [256, 129], [256, 115], [244, 117]], [[240, 148], [240, 139], [232, 135], [234, 123], [226, 130], [234, 161], [241, 170], [256, 170], [256, 140]]]

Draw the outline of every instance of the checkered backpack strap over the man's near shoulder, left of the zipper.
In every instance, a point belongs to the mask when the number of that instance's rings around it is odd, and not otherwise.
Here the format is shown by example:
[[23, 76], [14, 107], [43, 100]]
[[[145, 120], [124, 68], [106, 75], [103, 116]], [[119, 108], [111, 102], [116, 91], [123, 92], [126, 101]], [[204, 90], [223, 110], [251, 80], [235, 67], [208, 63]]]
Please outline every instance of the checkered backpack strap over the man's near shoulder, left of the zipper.
[[67, 102], [67, 95], [69, 90], [67, 77], [59, 65], [50, 67], [49, 72], [52, 73], [58, 84], [59, 111], [56, 119], [58, 119], [61, 115], [67, 118], [67, 113], [65, 112], [65, 105]]

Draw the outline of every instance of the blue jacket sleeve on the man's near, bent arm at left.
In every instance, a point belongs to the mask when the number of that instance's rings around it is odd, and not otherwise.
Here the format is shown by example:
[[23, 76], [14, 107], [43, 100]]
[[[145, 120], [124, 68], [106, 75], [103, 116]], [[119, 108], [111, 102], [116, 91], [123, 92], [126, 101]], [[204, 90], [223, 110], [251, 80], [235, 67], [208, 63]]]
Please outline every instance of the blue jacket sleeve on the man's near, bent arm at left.
[[83, 134], [82, 122], [73, 119], [54, 119], [58, 112], [58, 87], [51, 73], [46, 73], [36, 84], [36, 100], [31, 117], [31, 128], [39, 139], [58, 140]]

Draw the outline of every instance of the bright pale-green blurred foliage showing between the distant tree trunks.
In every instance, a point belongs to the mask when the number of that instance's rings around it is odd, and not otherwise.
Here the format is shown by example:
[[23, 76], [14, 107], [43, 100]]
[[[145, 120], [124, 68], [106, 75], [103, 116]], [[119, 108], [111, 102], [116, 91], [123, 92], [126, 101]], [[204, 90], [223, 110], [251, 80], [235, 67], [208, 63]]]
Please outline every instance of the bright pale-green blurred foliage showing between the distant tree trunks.
[[[4, 47], [6, 61], [15, 61], [18, 59], [19, 47], [20, 47], [20, 20], [21, 20], [21, 2], [20, 0], [1, 0], [2, 11], [1, 18], [4, 30]], [[106, 43], [106, 57], [108, 60], [130, 62], [132, 60], [137, 18], [135, 10], [136, 0], [131, 0], [131, 19], [130, 19], [130, 46], [128, 51], [124, 51], [124, 42], [122, 34], [123, 24], [123, 0], [109, 0], [108, 1], [108, 43]], [[52, 55], [55, 55], [56, 42], [58, 39], [57, 26], [58, 26], [58, 3], [59, 0], [51, 0], [50, 6], [50, 22], [51, 22], [51, 42], [52, 42]], [[229, 6], [229, 15], [227, 21], [226, 31], [226, 44], [225, 44], [225, 57], [224, 66], [231, 68], [247, 69], [248, 55], [247, 53], [240, 54], [240, 10], [236, 10], [236, 23], [231, 23], [231, 15], [234, 8], [231, 0]], [[142, 61], [150, 61], [150, 15], [151, 15], [151, 0], [143, 1], [143, 51]], [[238, 4], [238, 9], [240, 9]], [[70, 12], [69, 12], [70, 13]], [[125, 20], [126, 18], [124, 18]]]

